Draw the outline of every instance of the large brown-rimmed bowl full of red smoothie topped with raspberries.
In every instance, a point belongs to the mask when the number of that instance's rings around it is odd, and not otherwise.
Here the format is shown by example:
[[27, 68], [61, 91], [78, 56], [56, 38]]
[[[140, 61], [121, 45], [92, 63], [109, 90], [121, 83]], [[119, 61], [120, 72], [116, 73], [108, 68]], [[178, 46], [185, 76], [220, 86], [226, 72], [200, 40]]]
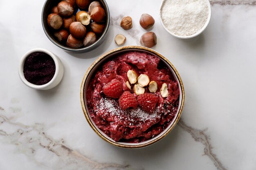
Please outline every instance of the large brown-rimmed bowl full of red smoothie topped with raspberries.
[[184, 87], [175, 67], [142, 46], [101, 55], [85, 73], [80, 95], [92, 129], [122, 148], [142, 148], [164, 138], [184, 106]]

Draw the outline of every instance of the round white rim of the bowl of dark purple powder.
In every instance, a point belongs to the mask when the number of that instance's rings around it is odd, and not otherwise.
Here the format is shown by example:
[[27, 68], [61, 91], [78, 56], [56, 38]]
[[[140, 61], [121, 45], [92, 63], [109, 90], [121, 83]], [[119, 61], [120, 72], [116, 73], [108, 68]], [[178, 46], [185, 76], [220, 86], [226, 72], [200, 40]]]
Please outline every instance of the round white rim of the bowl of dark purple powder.
[[[55, 73], [54, 73], [54, 76], [52, 77], [52, 79], [46, 83], [46, 84], [43, 84], [43, 85], [36, 85], [36, 84], [33, 84], [33, 83], [30, 83], [29, 81], [27, 81], [27, 79], [25, 79], [25, 76], [24, 76], [24, 73], [23, 73], [23, 67], [24, 67], [24, 64], [25, 64], [25, 60], [26, 58], [31, 54], [31, 53], [34, 53], [34, 52], [43, 52], [43, 53], [46, 53], [48, 54], [49, 56], [52, 57], [52, 59], [54, 60], [54, 64], [55, 64]], [[18, 73], [19, 73], [19, 76], [20, 76], [20, 79], [21, 81], [29, 86], [30, 88], [34, 88], [34, 89], [44, 89], [48, 86], [50, 86], [51, 84], [53, 84], [55, 82], [55, 80], [57, 79], [58, 77], [58, 74], [60, 72], [60, 66], [59, 66], [59, 62], [58, 62], [58, 59], [57, 59], [57, 56], [52, 53], [51, 51], [48, 51], [46, 49], [42, 49], [42, 48], [36, 48], [36, 49], [31, 49], [29, 51], [27, 51], [20, 59], [20, 64], [19, 64], [19, 68], [18, 68]]]

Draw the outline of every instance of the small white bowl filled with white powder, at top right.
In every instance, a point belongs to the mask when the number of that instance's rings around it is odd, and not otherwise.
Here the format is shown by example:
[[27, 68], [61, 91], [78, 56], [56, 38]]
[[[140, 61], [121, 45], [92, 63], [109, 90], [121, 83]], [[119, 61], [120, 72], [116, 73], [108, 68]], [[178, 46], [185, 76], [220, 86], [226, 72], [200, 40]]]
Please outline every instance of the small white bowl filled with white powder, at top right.
[[193, 38], [206, 28], [211, 18], [209, 0], [164, 0], [160, 20], [164, 29], [177, 38]]

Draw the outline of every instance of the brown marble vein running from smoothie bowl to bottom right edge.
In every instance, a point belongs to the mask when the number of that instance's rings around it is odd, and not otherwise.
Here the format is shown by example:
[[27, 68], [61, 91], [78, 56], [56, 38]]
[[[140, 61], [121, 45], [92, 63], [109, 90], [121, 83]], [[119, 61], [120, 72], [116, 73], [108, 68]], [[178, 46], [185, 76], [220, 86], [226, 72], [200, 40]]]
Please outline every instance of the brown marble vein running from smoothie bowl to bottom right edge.
[[183, 119], [179, 120], [178, 125], [186, 132], [189, 132], [192, 135], [192, 137], [195, 139], [195, 141], [198, 141], [204, 145], [204, 155], [207, 155], [211, 159], [211, 161], [213, 161], [214, 165], [218, 170], [227, 170], [222, 165], [222, 162], [218, 159], [218, 157], [213, 153], [213, 150], [212, 150], [213, 146], [211, 145], [211, 142], [210, 142], [210, 136], [207, 135], [206, 133], [207, 129], [204, 129], [204, 130], [195, 129], [191, 126], [186, 125]]

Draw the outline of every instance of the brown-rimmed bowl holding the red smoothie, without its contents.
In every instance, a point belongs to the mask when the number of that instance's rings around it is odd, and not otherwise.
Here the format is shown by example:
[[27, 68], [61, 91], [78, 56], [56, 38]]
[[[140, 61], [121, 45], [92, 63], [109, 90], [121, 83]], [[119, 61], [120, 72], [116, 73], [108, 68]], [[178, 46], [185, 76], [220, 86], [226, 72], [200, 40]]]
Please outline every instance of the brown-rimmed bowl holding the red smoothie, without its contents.
[[[90, 83], [90, 79], [96, 73], [96, 71], [98, 71], [99, 66], [101, 66], [104, 62], [106, 62], [106, 60], [109, 60], [111, 57], [116, 56], [119, 53], [127, 52], [127, 51], [147, 52], [147, 53], [150, 53], [150, 54], [153, 54], [153, 55], [156, 55], [157, 57], [159, 57], [164, 63], [166, 63], [166, 65], [171, 70], [174, 78], [177, 80], [177, 82], [179, 84], [179, 89], [180, 89], [178, 110], [177, 110], [177, 113], [176, 113], [173, 121], [171, 121], [171, 124], [163, 132], [161, 132], [159, 135], [153, 137], [152, 139], [149, 139], [147, 141], [143, 141], [143, 142], [140, 142], [140, 143], [116, 142], [113, 139], [111, 139], [110, 137], [108, 137], [108, 135], [106, 135], [104, 132], [102, 132], [94, 124], [94, 121], [91, 119], [91, 116], [90, 116], [90, 113], [88, 111], [88, 107], [87, 107], [87, 104], [86, 104], [86, 89], [87, 89], [87, 87]], [[177, 124], [178, 120], [180, 119], [182, 109], [183, 109], [183, 106], [184, 106], [184, 97], [185, 97], [185, 94], [184, 94], [183, 83], [182, 83], [182, 80], [180, 78], [179, 73], [177, 72], [177, 70], [173, 66], [173, 64], [171, 64], [171, 62], [168, 61], [163, 55], [157, 53], [156, 51], [154, 51], [152, 49], [148, 49], [148, 48], [143, 47], [143, 46], [123, 46], [123, 47], [119, 47], [117, 49], [113, 49], [111, 51], [108, 51], [107, 53], [104, 53], [103, 55], [101, 55], [96, 61], [94, 61], [92, 63], [92, 65], [86, 71], [86, 73], [83, 77], [83, 81], [82, 81], [82, 84], [81, 84], [81, 90], [80, 90], [80, 99], [81, 99], [81, 105], [82, 105], [82, 108], [83, 108], [83, 113], [84, 113], [85, 118], [87, 119], [88, 123], [90, 124], [91, 128], [103, 140], [107, 141], [108, 143], [110, 143], [114, 146], [118, 146], [118, 147], [121, 147], [121, 148], [143, 148], [143, 147], [149, 146], [151, 144], [155, 144], [157, 141], [166, 137], [166, 135], [169, 132], [171, 132], [171, 130], [173, 130], [174, 126]]]

